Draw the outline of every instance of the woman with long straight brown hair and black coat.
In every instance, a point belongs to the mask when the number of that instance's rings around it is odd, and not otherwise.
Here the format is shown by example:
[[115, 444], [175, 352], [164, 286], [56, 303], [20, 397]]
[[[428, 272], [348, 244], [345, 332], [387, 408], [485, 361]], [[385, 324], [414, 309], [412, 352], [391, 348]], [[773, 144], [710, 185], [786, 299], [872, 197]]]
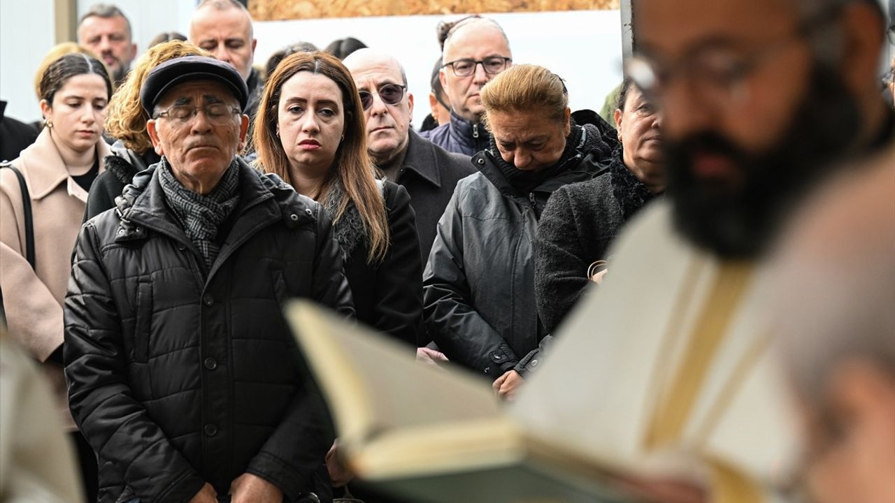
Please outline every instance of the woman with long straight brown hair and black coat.
[[268, 77], [255, 121], [260, 167], [332, 219], [357, 319], [415, 347], [422, 260], [410, 196], [376, 179], [351, 73], [326, 53], [289, 55]]

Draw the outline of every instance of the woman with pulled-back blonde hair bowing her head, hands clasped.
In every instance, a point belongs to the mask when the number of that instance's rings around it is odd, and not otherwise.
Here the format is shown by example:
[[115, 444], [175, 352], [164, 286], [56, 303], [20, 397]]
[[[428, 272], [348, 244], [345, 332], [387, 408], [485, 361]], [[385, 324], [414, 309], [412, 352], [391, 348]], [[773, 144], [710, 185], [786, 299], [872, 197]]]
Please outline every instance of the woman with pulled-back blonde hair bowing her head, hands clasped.
[[[550, 194], [599, 173], [617, 144], [609, 124], [575, 124], [563, 81], [517, 64], [482, 88], [490, 149], [456, 184], [423, 275], [426, 325], [453, 362], [512, 396], [545, 333], [534, 298], [534, 233]], [[583, 121], [584, 122], [584, 121]]]

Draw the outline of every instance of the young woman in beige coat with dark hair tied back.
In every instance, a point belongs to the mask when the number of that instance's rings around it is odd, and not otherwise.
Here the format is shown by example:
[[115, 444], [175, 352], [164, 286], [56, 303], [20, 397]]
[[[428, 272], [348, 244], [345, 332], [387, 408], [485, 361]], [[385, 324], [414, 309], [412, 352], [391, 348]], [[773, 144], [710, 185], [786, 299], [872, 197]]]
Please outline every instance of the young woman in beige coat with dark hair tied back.
[[[33, 213], [35, 268], [26, 257], [22, 192], [12, 169], [0, 169], [0, 291], [9, 334], [45, 373], [60, 398], [64, 422], [79, 442], [81, 461], [93, 459], [85, 485], [96, 490], [96, 461], [80, 433], [74, 431], [65, 401], [62, 367], [63, 302], [71, 274], [72, 248], [90, 183], [102, 158], [109, 155], [102, 139], [112, 84], [105, 66], [81, 54], [64, 55], [47, 67], [40, 82], [40, 109], [45, 127], [13, 161], [28, 188]], [[95, 495], [93, 500], [95, 500]]]

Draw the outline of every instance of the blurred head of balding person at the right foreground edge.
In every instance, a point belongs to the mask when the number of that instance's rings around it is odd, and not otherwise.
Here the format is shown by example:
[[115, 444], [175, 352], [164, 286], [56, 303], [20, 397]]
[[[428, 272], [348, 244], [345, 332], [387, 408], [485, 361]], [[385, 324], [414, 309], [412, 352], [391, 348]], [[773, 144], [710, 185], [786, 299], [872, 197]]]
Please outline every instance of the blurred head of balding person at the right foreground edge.
[[773, 275], [818, 503], [895, 501], [895, 149], [874, 164], [802, 211]]

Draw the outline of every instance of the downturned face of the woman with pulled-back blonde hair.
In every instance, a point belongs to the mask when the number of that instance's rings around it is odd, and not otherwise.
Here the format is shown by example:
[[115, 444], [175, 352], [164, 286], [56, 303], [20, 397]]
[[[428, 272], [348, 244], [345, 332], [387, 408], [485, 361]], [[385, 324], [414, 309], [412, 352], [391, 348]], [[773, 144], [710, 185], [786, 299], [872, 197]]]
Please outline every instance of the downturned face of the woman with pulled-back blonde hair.
[[488, 123], [500, 157], [521, 171], [538, 171], [555, 165], [566, 149], [569, 109], [565, 118], [551, 119], [537, 107], [511, 112], [489, 112]]

